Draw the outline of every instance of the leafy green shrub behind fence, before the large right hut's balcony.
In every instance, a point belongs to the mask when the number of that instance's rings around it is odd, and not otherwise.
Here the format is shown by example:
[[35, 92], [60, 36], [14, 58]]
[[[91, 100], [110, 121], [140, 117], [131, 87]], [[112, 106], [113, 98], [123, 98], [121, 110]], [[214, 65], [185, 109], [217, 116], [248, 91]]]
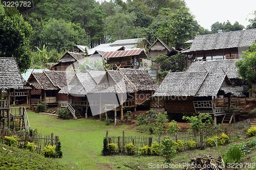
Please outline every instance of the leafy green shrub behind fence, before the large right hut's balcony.
[[198, 116], [183, 116], [183, 120], [187, 120], [191, 126], [189, 130], [193, 131], [194, 134], [200, 130], [207, 129], [213, 124], [213, 119], [208, 113], [200, 113]]

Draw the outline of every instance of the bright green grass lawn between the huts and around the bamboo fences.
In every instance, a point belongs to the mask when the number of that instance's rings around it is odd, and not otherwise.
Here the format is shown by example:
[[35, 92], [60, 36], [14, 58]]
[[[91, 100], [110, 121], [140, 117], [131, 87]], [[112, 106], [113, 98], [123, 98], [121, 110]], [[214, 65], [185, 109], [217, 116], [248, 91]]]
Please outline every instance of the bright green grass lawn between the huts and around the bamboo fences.
[[[62, 120], [56, 116], [38, 114], [28, 111], [30, 126], [37, 129], [43, 135], [52, 132], [58, 135], [62, 144], [63, 158], [65, 164], [74, 169], [149, 169], [148, 163], [161, 164], [164, 159], [159, 156], [101, 156], [103, 137], [106, 130], [111, 136], [148, 136], [149, 133], [139, 133], [134, 126], [113, 124], [106, 126], [104, 122], [97, 119]], [[227, 146], [220, 146], [219, 151], [225, 150]], [[209, 154], [218, 157], [216, 147], [205, 150], [191, 150], [179, 153], [174, 163], [189, 162], [191, 158], [199, 155]], [[254, 152], [255, 154], [255, 152]], [[248, 161], [255, 161], [255, 156], [250, 156]]]

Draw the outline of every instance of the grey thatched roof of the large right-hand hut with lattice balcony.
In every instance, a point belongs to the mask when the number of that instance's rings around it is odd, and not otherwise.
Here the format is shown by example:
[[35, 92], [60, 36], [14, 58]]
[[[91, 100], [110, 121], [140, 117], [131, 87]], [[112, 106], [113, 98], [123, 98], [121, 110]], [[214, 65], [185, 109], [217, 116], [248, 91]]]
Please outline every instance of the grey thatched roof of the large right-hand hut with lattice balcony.
[[[215, 96], [220, 90], [233, 96], [241, 96], [239, 90], [232, 86], [221, 86], [229, 81], [223, 74], [208, 72], [170, 72], [156, 90], [154, 96]], [[233, 93], [234, 92], [234, 93]]]

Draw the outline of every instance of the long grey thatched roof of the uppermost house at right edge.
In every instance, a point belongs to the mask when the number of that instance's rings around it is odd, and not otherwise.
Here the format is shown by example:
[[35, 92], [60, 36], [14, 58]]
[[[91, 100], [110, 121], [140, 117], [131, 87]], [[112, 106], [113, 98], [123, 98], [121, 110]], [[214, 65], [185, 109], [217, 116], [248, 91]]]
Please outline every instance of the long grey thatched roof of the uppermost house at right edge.
[[249, 46], [256, 41], [256, 29], [197, 35], [189, 52]]

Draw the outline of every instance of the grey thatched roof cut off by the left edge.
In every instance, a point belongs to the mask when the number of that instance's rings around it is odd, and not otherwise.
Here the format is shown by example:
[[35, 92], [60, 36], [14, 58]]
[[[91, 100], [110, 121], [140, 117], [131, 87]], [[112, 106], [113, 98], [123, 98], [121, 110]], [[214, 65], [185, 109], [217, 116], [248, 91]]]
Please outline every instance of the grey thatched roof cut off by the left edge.
[[0, 57], [0, 89], [23, 88], [22, 76], [15, 58]]

